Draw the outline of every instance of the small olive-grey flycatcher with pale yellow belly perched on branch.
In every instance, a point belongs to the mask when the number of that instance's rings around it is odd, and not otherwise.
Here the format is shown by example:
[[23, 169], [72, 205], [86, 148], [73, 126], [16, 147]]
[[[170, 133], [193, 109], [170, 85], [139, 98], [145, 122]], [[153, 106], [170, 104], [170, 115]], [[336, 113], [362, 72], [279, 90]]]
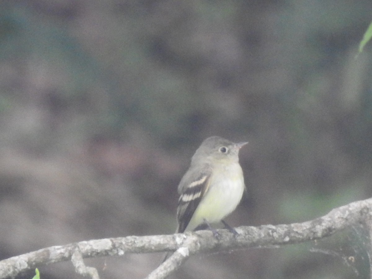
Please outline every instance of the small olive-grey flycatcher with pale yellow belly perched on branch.
[[178, 185], [176, 232], [221, 221], [228, 227], [223, 219], [235, 210], [245, 189], [238, 153], [247, 143], [217, 136], [202, 142]]

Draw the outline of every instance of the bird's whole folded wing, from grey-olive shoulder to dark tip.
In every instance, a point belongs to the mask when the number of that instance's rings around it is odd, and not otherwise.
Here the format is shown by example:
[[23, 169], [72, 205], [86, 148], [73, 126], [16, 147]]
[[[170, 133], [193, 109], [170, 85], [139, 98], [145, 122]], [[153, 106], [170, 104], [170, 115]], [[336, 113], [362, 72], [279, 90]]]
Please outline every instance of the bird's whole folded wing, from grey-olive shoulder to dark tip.
[[[212, 171], [209, 168], [199, 168], [198, 172], [190, 169], [182, 178], [179, 185], [180, 198], [177, 208], [177, 232], [185, 231], [204, 193], [208, 190], [211, 173]], [[186, 181], [190, 183], [185, 184]], [[182, 183], [185, 185], [182, 185]]]

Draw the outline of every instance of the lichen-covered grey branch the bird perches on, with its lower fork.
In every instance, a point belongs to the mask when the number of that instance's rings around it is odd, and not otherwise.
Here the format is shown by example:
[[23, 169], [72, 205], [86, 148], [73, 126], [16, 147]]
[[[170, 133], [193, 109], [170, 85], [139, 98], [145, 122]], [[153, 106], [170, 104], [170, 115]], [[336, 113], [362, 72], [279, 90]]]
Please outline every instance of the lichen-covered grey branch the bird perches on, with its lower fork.
[[0, 279], [45, 264], [71, 260], [78, 248], [83, 258], [121, 256], [125, 253], [154, 253], [176, 251], [148, 278], [165, 278], [179, 268], [185, 260], [197, 253], [234, 250], [267, 245], [294, 244], [316, 240], [341, 231], [357, 222], [372, 219], [372, 199], [349, 203], [333, 209], [323, 217], [288, 225], [262, 225], [238, 227], [238, 236], [228, 230], [218, 230], [219, 238], [211, 231], [186, 232], [173, 235], [128, 236], [81, 241], [64, 246], [52, 246], [0, 261]]

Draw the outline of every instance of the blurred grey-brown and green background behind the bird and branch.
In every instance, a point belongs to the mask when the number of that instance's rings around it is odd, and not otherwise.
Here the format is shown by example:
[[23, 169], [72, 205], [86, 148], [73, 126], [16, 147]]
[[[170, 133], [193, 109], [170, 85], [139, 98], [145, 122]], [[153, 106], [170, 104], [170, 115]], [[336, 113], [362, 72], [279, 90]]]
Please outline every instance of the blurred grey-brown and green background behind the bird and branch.
[[[302, 222], [372, 196], [370, 0], [0, 4], [0, 259], [170, 234], [211, 135], [240, 152], [231, 226]], [[368, 278], [362, 225], [324, 241], [192, 257], [170, 278]], [[144, 278], [163, 254], [86, 260]], [[82, 278], [71, 263], [42, 278]], [[32, 278], [34, 272], [19, 276]]]

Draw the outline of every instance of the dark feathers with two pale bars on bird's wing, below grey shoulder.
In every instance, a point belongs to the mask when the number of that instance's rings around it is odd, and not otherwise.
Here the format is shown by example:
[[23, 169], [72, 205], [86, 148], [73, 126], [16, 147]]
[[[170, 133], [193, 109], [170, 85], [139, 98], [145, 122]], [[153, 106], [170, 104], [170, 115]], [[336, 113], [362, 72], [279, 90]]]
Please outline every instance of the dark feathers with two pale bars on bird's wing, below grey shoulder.
[[209, 177], [210, 174], [202, 173], [187, 187], [184, 187], [178, 200], [177, 232], [185, 231], [204, 193], [208, 190]]

